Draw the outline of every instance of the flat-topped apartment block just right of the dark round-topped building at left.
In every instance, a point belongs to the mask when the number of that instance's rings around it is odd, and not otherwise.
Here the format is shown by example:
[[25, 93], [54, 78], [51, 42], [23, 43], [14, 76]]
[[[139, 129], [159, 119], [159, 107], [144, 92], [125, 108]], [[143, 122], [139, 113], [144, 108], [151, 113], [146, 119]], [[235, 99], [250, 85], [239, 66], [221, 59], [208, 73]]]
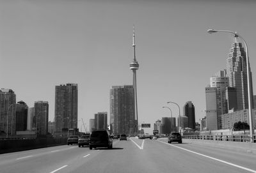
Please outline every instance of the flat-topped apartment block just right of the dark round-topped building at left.
[[35, 102], [35, 127], [36, 136], [44, 136], [48, 133], [49, 103]]

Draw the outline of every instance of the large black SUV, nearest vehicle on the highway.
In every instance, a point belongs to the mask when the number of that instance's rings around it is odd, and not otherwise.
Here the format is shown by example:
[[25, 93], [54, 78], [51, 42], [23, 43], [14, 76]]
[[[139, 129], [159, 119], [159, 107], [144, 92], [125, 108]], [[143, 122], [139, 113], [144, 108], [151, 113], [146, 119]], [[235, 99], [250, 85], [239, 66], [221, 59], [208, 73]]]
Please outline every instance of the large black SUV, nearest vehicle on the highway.
[[113, 147], [113, 140], [108, 130], [93, 131], [90, 135], [89, 147], [90, 149], [96, 147], [108, 147], [108, 149], [111, 149]]

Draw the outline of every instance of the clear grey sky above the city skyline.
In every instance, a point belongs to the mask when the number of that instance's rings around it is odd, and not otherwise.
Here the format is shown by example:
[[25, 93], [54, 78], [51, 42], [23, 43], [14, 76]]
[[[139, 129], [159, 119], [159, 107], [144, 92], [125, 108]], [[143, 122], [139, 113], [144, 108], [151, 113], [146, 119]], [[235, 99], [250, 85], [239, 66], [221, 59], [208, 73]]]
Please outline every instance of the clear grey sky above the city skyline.
[[[234, 38], [207, 29], [237, 31], [248, 44], [256, 92], [256, 1], [0, 0], [0, 87], [29, 107], [49, 102], [55, 86], [78, 84], [81, 118], [108, 112], [111, 86], [132, 84], [132, 26], [136, 32], [138, 119], [153, 123], [195, 105], [205, 116], [205, 87], [226, 68]], [[152, 128], [145, 129], [152, 133]], [[84, 132], [84, 129], [83, 129]]]

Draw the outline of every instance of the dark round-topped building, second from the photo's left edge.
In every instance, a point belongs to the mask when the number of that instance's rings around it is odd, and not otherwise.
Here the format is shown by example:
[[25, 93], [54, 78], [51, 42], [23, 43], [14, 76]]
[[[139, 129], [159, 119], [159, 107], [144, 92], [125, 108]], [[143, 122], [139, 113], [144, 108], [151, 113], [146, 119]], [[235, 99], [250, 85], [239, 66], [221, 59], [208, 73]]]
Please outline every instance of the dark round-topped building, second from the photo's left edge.
[[15, 132], [27, 130], [28, 125], [28, 105], [20, 101], [16, 105]]

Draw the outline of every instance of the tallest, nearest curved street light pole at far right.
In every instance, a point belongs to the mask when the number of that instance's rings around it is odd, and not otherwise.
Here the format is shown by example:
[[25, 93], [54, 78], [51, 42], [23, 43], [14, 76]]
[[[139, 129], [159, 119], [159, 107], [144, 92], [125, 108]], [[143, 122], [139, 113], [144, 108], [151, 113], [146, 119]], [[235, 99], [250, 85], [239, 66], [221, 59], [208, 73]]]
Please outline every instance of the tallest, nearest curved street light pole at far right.
[[251, 87], [251, 73], [250, 73], [250, 63], [249, 63], [249, 56], [248, 56], [248, 47], [247, 43], [244, 40], [244, 38], [237, 34], [236, 32], [233, 31], [223, 31], [223, 30], [215, 30], [215, 29], [208, 29], [207, 33], [212, 34], [212, 33], [217, 33], [217, 32], [222, 32], [222, 33], [231, 33], [234, 34], [234, 36], [237, 38], [241, 38], [241, 40], [244, 41], [244, 46], [245, 46], [245, 51], [246, 51], [246, 73], [247, 73], [247, 87], [248, 87], [248, 112], [249, 112], [249, 123], [250, 123], [250, 142], [253, 143], [253, 117], [252, 117], [252, 87]]

